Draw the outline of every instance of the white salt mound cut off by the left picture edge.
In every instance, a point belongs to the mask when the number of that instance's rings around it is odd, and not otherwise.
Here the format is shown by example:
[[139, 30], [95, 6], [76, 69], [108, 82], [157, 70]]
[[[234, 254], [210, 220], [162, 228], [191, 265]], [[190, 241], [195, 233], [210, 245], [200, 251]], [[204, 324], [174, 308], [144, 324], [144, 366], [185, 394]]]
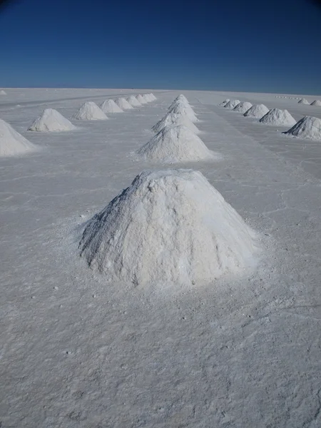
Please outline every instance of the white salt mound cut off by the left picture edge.
[[0, 119], [0, 156], [17, 156], [35, 151], [36, 146]]

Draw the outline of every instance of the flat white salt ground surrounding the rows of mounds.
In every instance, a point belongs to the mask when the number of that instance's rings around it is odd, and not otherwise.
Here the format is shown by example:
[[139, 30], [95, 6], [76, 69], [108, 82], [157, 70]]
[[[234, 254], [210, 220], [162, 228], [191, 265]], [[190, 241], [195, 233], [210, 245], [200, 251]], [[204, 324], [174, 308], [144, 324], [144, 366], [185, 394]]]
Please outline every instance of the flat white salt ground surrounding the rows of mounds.
[[84, 101], [139, 91], [6, 92], [0, 118], [43, 150], [0, 158], [1, 427], [320, 427], [321, 141], [216, 105], [238, 98], [295, 119], [321, 108], [183, 91], [223, 159], [179, 166], [208, 178], [263, 253], [248, 276], [162, 290], [107, 284], [78, 257], [77, 227], [141, 170], [164, 168], [129, 153], [180, 92], [68, 133], [26, 128], [46, 106], [71, 118]]

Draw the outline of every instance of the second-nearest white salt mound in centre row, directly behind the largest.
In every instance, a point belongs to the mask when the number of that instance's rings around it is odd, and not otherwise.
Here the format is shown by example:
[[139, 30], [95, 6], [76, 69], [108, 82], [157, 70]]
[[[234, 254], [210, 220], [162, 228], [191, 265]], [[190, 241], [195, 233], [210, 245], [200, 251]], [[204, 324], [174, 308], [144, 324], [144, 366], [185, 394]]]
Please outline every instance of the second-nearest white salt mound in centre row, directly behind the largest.
[[218, 159], [203, 141], [186, 126], [167, 126], [137, 151], [151, 161], [178, 163]]

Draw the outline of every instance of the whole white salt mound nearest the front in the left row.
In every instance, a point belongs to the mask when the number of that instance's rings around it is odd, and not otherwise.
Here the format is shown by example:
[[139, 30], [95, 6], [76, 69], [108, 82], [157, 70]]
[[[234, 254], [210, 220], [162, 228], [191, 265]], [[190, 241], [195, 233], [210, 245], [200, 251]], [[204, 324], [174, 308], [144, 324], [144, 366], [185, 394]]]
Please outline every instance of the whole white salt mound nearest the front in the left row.
[[61, 113], [54, 110], [54, 108], [46, 108], [41, 116], [28, 128], [28, 131], [61, 132], [72, 131], [73, 129], [76, 129], [76, 126], [73, 126]]

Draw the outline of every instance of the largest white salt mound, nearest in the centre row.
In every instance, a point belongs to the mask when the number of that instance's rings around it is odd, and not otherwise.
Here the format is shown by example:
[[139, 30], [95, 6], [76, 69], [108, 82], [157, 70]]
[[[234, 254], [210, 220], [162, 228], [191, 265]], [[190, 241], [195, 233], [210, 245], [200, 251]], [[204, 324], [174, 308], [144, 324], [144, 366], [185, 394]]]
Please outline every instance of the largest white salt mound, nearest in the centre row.
[[198, 171], [143, 171], [88, 221], [89, 266], [134, 285], [208, 283], [253, 267], [255, 232]]

